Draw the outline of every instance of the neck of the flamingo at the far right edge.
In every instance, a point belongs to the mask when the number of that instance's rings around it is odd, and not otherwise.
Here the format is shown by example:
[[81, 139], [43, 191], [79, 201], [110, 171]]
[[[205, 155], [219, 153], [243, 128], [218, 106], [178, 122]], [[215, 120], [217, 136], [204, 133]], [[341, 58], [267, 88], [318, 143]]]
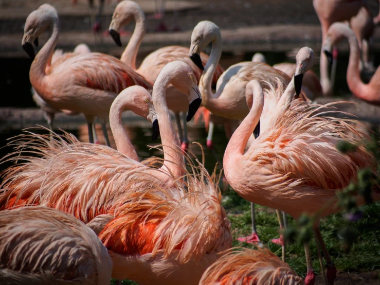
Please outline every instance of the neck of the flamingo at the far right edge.
[[[350, 45], [350, 58], [347, 68], [347, 84], [351, 92], [361, 99], [365, 99], [365, 94], [363, 94], [363, 88], [366, 84], [361, 82], [359, 75], [359, 61], [360, 61], [360, 50], [354, 34], [348, 34], [343, 32], [345, 37], [348, 39]], [[363, 97], [362, 97], [363, 96]]]

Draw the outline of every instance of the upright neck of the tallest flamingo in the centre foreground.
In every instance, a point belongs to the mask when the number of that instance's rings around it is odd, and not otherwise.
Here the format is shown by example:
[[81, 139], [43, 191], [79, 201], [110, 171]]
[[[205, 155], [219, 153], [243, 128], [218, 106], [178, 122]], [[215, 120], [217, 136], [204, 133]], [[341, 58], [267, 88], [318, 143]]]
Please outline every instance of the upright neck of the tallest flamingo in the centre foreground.
[[157, 119], [164, 149], [164, 165], [175, 177], [183, 175], [185, 169], [183, 155], [180, 152], [179, 139], [175, 134], [169, 108], [166, 103], [166, 88], [170, 81], [165, 76], [158, 77], [153, 86], [153, 105], [157, 112]]

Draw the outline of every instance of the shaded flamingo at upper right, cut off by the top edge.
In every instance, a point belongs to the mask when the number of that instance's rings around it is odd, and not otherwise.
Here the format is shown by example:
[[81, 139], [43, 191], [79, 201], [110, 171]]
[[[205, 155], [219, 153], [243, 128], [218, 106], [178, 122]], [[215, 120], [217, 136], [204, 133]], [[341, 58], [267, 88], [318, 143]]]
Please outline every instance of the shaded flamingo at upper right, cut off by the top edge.
[[[331, 96], [333, 93], [334, 80], [329, 80], [328, 61], [323, 54], [324, 41], [327, 30], [335, 22], [350, 21], [359, 9], [363, 6], [361, 0], [313, 0], [313, 7], [317, 13], [322, 27], [322, 48], [320, 54], [320, 83], [324, 96]], [[337, 57], [337, 50], [334, 51], [334, 59]], [[333, 72], [332, 72], [333, 74]], [[334, 75], [332, 75], [333, 77]]]

